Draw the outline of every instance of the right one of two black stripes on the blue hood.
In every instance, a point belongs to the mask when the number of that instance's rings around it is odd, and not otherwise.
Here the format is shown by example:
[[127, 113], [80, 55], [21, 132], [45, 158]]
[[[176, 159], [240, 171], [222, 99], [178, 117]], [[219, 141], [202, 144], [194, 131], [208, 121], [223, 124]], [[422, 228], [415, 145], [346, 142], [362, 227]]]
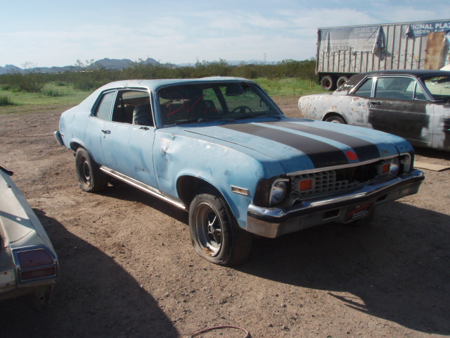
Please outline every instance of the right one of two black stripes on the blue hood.
[[265, 122], [267, 125], [278, 125], [279, 127], [289, 128], [297, 130], [299, 132], [305, 132], [307, 134], [313, 134], [316, 136], [324, 137], [326, 139], [333, 139], [333, 141], [340, 142], [351, 147], [356, 155], [358, 155], [359, 161], [369, 161], [373, 158], [380, 157], [380, 151], [378, 146], [372, 142], [365, 141], [364, 139], [359, 139], [347, 134], [342, 134], [340, 132], [333, 132], [331, 130], [323, 130], [316, 127], [311, 127], [309, 125], [297, 125], [297, 123], [291, 122]]

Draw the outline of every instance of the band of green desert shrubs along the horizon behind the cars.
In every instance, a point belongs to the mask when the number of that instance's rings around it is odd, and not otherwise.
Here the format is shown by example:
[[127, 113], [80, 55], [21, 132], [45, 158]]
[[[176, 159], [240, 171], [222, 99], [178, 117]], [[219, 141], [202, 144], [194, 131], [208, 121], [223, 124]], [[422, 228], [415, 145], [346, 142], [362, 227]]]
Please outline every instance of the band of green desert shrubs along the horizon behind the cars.
[[[53, 87], [73, 86], [84, 92], [91, 92], [103, 84], [117, 80], [129, 79], [189, 79], [193, 77], [207, 76], [236, 76], [248, 79], [266, 79], [266, 88], [271, 91], [283, 90], [279, 87], [279, 79], [297, 78], [307, 82], [306, 84], [291, 84], [297, 92], [309, 88], [310, 81], [317, 81], [315, 73], [316, 61], [314, 58], [304, 61], [284, 60], [278, 63], [241, 63], [230, 65], [227, 61], [202, 61], [195, 65], [177, 67], [170, 63], [145, 63], [134, 62], [131, 67], [124, 70], [106, 70], [101, 67], [93, 67], [94, 61], [82, 63], [77, 61], [71, 71], [60, 74], [42, 74], [32, 71], [23, 73], [9, 73], [0, 75], [1, 89], [12, 92], [42, 93], [48, 96], [62, 96], [63, 93]], [[47, 84], [52, 83], [52, 90]], [[297, 94], [297, 92], [295, 94]]]

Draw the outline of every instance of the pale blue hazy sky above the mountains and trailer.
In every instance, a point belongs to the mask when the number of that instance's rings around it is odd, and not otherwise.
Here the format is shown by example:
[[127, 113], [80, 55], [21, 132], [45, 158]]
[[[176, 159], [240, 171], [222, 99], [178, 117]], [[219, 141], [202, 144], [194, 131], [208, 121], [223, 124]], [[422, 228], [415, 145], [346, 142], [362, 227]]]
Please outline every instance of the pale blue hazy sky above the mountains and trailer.
[[317, 27], [450, 18], [438, 0], [0, 0], [0, 66], [304, 60]]

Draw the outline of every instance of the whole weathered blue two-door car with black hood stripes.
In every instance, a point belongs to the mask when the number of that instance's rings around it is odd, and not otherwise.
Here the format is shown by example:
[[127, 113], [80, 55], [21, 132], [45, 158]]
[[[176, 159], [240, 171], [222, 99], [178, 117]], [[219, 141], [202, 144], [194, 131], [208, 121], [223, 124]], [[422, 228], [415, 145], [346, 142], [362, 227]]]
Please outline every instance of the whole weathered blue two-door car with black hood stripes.
[[243, 263], [252, 234], [364, 222], [424, 179], [405, 139], [288, 118], [236, 77], [112, 82], [65, 111], [55, 137], [81, 189], [115, 177], [185, 209], [195, 251], [220, 265]]

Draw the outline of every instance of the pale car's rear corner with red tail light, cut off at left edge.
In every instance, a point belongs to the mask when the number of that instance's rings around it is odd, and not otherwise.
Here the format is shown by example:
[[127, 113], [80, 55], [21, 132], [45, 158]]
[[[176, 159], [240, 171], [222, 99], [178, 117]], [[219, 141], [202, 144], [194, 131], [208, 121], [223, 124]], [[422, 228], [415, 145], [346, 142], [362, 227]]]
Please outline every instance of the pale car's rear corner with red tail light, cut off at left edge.
[[58, 279], [58, 257], [44, 227], [0, 166], [0, 300], [27, 295], [46, 306]]

